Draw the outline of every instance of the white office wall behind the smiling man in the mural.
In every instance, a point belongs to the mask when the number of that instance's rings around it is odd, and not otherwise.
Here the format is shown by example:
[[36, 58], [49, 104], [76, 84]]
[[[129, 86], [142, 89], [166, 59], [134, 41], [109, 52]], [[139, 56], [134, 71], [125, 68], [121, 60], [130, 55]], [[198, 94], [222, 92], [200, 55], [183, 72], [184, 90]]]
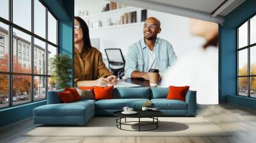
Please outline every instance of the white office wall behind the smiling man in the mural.
[[[100, 13], [106, 3], [109, 3], [109, 1], [76, 0], [75, 11], [88, 10], [90, 14]], [[122, 15], [123, 13], [121, 11], [118, 14]], [[138, 11], [137, 16], [138, 20], [140, 20], [140, 11]], [[103, 15], [102, 17], [116, 19], [116, 13]], [[96, 19], [104, 19], [102, 17]], [[148, 10], [148, 17], [156, 17], [160, 20], [162, 32], [158, 37], [170, 41], [178, 57], [204, 43], [202, 38], [191, 36], [189, 33], [189, 18], [152, 10]], [[100, 39], [99, 49], [102, 52], [104, 52], [105, 48], [120, 48], [125, 55], [129, 45], [143, 38], [143, 23], [108, 29], [90, 29], [90, 38]]]

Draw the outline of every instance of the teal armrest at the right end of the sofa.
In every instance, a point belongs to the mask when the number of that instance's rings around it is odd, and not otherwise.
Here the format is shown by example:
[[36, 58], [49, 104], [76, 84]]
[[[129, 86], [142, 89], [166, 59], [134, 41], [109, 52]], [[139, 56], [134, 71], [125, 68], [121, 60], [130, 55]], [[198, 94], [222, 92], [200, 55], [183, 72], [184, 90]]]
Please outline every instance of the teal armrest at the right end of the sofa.
[[188, 91], [186, 94], [186, 103], [188, 103], [188, 115], [196, 115], [196, 91]]

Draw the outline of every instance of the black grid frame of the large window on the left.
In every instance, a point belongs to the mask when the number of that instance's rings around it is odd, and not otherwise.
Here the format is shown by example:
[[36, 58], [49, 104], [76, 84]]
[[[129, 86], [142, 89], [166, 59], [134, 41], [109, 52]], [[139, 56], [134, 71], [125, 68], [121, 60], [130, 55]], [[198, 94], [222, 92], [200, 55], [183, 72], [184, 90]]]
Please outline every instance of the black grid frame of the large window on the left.
[[[56, 48], [57, 50], [57, 53], [56, 55], [59, 54], [59, 44], [58, 44], [58, 33], [59, 33], [59, 29], [58, 29], [58, 23], [59, 23], [59, 20], [57, 19], [56, 15], [54, 15], [52, 13], [52, 11], [46, 6], [46, 4], [42, 1], [42, 0], [38, 0], [44, 7], [45, 7], [45, 38], [39, 36], [38, 34], [35, 34], [35, 31], [34, 31], [34, 24], [35, 24], [35, 19], [34, 19], [34, 13], [35, 13], [35, 10], [34, 10], [34, 1], [35, 0], [31, 0], [31, 31], [13, 23], [13, 0], [9, 0], [8, 1], [8, 6], [9, 6], [9, 11], [8, 11], [8, 20], [4, 19], [3, 17], [0, 17], [0, 22], [3, 23], [3, 24], [6, 24], [8, 25], [8, 50], [9, 50], [9, 70], [8, 72], [1, 72], [0, 71], [0, 74], [3, 74], [3, 75], [8, 75], [8, 106], [6, 107], [0, 107], [0, 110], [1, 109], [6, 109], [6, 108], [10, 108], [10, 107], [15, 107], [15, 106], [19, 106], [19, 105], [24, 105], [24, 104], [28, 104], [28, 103], [32, 103], [32, 102], [40, 102], [42, 100], [47, 100], [47, 91], [48, 91], [48, 80], [49, 80], [49, 77], [51, 77], [51, 75], [48, 74], [48, 69], [46, 69], [45, 73], [34, 73], [34, 49], [35, 49], [35, 44], [34, 44], [34, 38], [37, 38], [38, 40], [41, 40], [41, 41], [44, 41], [45, 42], [45, 59], [46, 59], [46, 65], [45, 67], [48, 66], [48, 56], [47, 56], [47, 53], [48, 53], [48, 44], [49, 45], [52, 45], [53, 47]], [[51, 41], [48, 40], [48, 12], [51, 13], [51, 15], [54, 17], [54, 19], [56, 19], [56, 44], [52, 43]], [[29, 36], [31, 36], [31, 45], [30, 45], [30, 54], [29, 54], [29, 61], [31, 62], [31, 72], [30, 73], [17, 73], [17, 72], [13, 72], [13, 28], [23, 32], [23, 33], [26, 33], [26, 34], [29, 34]], [[26, 45], [27, 47], [28, 45]], [[19, 50], [19, 41], [17, 40], [17, 52], [21, 52], [22, 54], [23, 53], [26, 53], [27, 55], [27, 50], [26, 50], [26, 47], [25, 47], [25, 51], [23, 52], [23, 44], [21, 45], [21, 50]], [[18, 55], [17, 55], [18, 56]], [[19, 57], [17, 57], [19, 58]], [[23, 58], [23, 57], [22, 57]], [[27, 60], [26, 60], [27, 61]], [[31, 78], [31, 86], [30, 86], [30, 97], [31, 99], [28, 100], [28, 102], [26, 103], [20, 103], [20, 104], [17, 104], [17, 105], [13, 105], [13, 75], [29, 75], [30, 78]], [[34, 93], [34, 79], [35, 77], [45, 77], [45, 98], [44, 99], [39, 99], [39, 100], [35, 100], [35, 93]]]

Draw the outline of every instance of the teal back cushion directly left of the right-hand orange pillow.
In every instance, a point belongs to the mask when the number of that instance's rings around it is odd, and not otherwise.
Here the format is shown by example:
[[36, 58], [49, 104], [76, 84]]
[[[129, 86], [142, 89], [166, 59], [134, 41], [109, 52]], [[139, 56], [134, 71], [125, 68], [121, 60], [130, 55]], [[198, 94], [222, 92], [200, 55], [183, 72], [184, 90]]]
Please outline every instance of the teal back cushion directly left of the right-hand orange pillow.
[[168, 87], [152, 87], [151, 99], [166, 98], [168, 95]]

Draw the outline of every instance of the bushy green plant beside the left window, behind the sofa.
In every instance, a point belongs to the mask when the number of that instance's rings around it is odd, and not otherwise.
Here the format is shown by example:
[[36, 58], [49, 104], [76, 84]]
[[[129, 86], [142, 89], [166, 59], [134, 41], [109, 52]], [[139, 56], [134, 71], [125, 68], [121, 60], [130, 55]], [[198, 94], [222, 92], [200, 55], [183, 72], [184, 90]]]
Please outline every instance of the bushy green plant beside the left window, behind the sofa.
[[67, 54], [59, 54], [51, 59], [52, 78], [56, 89], [70, 87], [72, 80], [72, 59]]

